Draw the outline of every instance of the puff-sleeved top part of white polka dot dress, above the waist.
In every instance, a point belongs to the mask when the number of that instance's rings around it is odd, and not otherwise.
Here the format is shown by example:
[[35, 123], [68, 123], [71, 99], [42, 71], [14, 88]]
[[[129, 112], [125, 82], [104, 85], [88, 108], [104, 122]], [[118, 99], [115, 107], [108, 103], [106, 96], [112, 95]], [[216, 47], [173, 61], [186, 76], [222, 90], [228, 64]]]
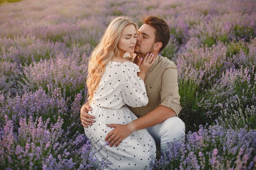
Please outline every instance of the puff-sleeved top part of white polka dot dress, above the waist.
[[[137, 76], [137, 72], [139, 72], [139, 67], [132, 62], [107, 64], [106, 71], [93, 97], [95, 104], [112, 109], [121, 108], [125, 104], [132, 107], [146, 106], [148, 97], [145, 84]], [[117, 91], [120, 93], [118, 94]]]

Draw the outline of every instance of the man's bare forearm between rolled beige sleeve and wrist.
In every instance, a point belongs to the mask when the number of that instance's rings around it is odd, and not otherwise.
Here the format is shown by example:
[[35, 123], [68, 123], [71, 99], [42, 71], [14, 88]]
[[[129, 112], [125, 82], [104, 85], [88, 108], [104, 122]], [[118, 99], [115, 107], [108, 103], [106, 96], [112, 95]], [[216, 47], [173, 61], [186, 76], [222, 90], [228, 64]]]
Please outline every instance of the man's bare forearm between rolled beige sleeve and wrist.
[[132, 127], [132, 131], [136, 131], [155, 126], [159, 123], [162, 123], [169, 117], [175, 116], [175, 112], [170, 108], [167, 108], [165, 106], [158, 106], [147, 115], [140, 117], [139, 119], [136, 119], [129, 124]]

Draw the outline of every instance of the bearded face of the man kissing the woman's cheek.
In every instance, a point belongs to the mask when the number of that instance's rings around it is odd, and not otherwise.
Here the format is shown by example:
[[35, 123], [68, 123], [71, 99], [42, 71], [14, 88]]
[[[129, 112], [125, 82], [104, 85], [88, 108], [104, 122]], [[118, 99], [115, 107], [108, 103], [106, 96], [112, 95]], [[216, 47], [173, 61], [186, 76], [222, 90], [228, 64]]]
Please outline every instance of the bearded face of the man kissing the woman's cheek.
[[155, 44], [155, 28], [148, 24], [143, 24], [138, 30], [137, 43], [134, 53], [139, 57], [145, 57], [147, 53], [153, 51]]

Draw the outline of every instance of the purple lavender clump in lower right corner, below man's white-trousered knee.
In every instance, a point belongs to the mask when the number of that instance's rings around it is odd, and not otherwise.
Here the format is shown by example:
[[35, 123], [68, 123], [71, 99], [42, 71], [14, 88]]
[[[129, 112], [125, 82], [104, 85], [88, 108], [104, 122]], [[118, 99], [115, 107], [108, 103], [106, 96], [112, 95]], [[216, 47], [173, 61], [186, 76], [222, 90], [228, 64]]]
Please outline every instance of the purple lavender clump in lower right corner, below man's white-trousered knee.
[[256, 154], [255, 140], [255, 130], [232, 130], [218, 122], [213, 126], [200, 126], [198, 132], [186, 135], [184, 143], [169, 145], [168, 152], [156, 161], [154, 167], [188, 170], [228, 169], [236, 165], [237, 168], [252, 169]]

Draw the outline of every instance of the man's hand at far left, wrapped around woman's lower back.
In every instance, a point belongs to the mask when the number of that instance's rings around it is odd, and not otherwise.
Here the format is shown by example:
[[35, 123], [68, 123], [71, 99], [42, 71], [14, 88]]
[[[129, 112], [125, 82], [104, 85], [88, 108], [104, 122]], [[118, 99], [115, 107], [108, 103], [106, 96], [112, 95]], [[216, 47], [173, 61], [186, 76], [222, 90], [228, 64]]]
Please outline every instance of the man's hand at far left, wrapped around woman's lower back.
[[94, 116], [88, 114], [88, 110], [92, 111], [92, 108], [88, 103], [84, 104], [80, 110], [80, 120], [85, 128], [88, 128], [88, 125], [92, 126], [92, 123], [94, 123], [94, 120], [92, 119], [95, 119]]

